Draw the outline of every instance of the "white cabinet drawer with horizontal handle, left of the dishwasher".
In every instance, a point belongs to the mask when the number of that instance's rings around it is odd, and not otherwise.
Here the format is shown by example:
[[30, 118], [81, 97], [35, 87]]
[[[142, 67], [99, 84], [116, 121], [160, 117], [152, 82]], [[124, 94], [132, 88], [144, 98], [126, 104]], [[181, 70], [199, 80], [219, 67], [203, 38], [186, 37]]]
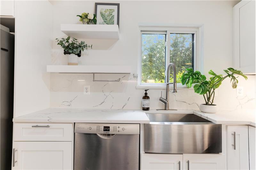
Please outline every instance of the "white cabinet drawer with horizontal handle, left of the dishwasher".
[[14, 141], [72, 141], [71, 123], [14, 123]]

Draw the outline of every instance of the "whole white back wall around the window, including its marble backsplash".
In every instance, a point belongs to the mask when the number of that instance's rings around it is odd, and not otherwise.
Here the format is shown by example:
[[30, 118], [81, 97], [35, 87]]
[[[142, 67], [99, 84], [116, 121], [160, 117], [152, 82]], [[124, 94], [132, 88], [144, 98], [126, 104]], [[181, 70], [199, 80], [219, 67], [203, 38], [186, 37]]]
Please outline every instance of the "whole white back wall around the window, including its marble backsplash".
[[[95, 1], [52, 2], [53, 39], [66, 37], [60, 31], [60, 24], [81, 24], [76, 15], [94, 12], [94, 3]], [[204, 74], [210, 69], [224, 74], [223, 69], [232, 67], [232, 10], [238, 1], [113, 3], [120, 3], [120, 40], [85, 40], [86, 43], [93, 44], [93, 49], [80, 57], [80, 64], [131, 65], [132, 74], [112, 75], [115, 79], [120, 77], [120, 82], [92, 82], [92, 74], [51, 74], [51, 107], [141, 108], [144, 90], [136, 89], [139, 23], [203, 25]], [[66, 62], [67, 56], [63, 55], [63, 50], [54, 42], [52, 64]], [[91, 85], [91, 95], [83, 95], [83, 85]], [[236, 97], [236, 89], [232, 89], [228, 80], [223, 82], [215, 97], [215, 104], [227, 109], [255, 108], [255, 76], [249, 76], [248, 81], [239, 78], [239, 85], [244, 86], [244, 96]], [[151, 108], [164, 107], [158, 100], [160, 94], [161, 90], [148, 92]], [[182, 87], [178, 87], [178, 93], [170, 93], [170, 100], [170, 108], [178, 109], [198, 109], [198, 105], [204, 101], [193, 89]]]

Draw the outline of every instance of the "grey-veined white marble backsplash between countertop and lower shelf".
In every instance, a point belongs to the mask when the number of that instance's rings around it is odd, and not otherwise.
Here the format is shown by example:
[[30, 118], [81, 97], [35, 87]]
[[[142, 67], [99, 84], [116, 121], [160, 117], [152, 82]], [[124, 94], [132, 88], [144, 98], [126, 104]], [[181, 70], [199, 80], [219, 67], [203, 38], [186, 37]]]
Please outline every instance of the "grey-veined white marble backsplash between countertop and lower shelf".
[[[137, 89], [137, 74], [95, 74], [95, 79], [119, 79], [119, 82], [92, 81], [93, 74], [51, 73], [51, 107], [141, 109], [144, 89]], [[244, 95], [236, 96], [229, 79], [222, 82], [215, 95], [214, 104], [220, 109], [255, 109], [255, 75], [248, 80], [238, 78], [238, 86], [244, 87]], [[83, 94], [83, 86], [90, 85], [90, 95]], [[170, 90], [172, 88], [170, 87]], [[150, 109], [164, 108], [159, 101], [165, 89], [150, 89]], [[204, 103], [202, 95], [193, 88], [177, 87], [177, 93], [169, 93], [170, 108], [199, 109]]]

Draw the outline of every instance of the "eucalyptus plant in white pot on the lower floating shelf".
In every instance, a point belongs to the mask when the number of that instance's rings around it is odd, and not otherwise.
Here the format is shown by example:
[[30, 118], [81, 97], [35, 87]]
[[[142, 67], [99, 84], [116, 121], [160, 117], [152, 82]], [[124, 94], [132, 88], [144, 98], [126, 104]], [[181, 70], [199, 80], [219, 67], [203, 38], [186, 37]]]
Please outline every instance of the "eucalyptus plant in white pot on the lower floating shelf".
[[70, 37], [68, 36], [66, 39], [61, 38], [57, 40], [57, 45], [60, 45], [64, 49], [64, 54], [68, 55], [68, 65], [78, 65], [78, 58], [81, 57], [81, 51], [84, 49], [92, 48], [92, 45], [85, 44], [84, 41], [79, 42], [76, 38], [72, 38], [70, 41]]

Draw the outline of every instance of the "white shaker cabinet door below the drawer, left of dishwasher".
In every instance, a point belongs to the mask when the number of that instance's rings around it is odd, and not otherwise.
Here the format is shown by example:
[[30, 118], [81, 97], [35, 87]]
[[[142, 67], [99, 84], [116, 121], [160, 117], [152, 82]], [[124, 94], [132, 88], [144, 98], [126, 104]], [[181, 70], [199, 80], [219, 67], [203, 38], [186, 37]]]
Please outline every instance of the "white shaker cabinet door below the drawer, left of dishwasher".
[[12, 154], [13, 170], [72, 169], [72, 142], [13, 142]]

